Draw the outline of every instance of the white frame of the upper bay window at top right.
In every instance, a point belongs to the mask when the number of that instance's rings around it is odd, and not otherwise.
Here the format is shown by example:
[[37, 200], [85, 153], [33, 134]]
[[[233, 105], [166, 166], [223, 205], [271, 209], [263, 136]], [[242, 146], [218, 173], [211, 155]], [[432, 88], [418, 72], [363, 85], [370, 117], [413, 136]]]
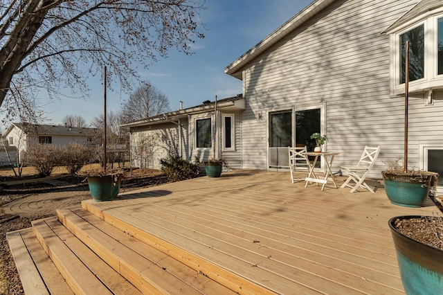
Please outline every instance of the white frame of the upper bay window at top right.
[[419, 15], [408, 21], [390, 34], [390, 95], [404, 96], [405, 85], [400, 81], [400, 35], [424, 25], [424, 78], [410, 81], [411, 93], [426, 92], [424, 98], [432, 94], [433, 89], [442, 89], [443, 75], [438, 75], [437, 33], [438, 19], [443, 18], [443, 8]]

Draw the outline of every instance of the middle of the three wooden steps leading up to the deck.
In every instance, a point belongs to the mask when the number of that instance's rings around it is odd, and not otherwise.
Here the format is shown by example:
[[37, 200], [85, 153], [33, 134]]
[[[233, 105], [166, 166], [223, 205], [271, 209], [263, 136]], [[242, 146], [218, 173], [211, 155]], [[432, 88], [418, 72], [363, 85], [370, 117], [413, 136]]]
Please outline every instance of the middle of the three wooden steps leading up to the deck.
[[[32, 223], [37, 240], [75, 294], [113, 294], [123, 290], [127, 294], [141, 294], [69, 233], [56, 217]], [[86, 258], [87, 264], [81, 258]]]

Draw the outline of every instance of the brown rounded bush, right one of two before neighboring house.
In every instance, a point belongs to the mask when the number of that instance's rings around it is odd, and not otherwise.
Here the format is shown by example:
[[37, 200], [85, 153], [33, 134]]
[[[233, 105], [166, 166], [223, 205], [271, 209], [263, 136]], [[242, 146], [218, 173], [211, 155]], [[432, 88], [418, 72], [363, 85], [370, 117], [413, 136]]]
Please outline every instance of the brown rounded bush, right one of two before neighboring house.
[[68, 146], [62, 147], [60, 154], [60, 165], [64, 166], [71, 175], [75, 175], [93, 159], [94, 150], [81, 143], [70, 143]]

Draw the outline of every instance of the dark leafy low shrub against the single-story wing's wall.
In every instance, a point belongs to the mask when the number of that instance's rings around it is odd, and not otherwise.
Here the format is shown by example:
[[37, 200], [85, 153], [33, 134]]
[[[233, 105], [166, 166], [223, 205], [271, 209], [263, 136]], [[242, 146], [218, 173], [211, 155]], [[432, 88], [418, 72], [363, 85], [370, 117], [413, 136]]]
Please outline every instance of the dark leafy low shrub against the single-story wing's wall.
[[181, 157], [169, 157], [161, 159], [161, 170], [165, 173], [170, 181], [181, 181], [199, 177], [201, 163], [195, 158], [195, 163], [187, 161]]

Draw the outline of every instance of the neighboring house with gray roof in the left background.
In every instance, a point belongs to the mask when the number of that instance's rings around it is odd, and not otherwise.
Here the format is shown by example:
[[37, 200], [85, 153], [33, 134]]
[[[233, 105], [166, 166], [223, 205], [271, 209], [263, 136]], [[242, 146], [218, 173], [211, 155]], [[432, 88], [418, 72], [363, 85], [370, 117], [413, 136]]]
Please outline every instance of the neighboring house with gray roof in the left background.
[[96, 128], [12, 123], [2, 136], [8, 141], [8, 147], [17, 149], [19, 161], [22, 161], [31, 145], [43, 143], [62, 147], [74, 142], [91, 145], [96, 133]]

